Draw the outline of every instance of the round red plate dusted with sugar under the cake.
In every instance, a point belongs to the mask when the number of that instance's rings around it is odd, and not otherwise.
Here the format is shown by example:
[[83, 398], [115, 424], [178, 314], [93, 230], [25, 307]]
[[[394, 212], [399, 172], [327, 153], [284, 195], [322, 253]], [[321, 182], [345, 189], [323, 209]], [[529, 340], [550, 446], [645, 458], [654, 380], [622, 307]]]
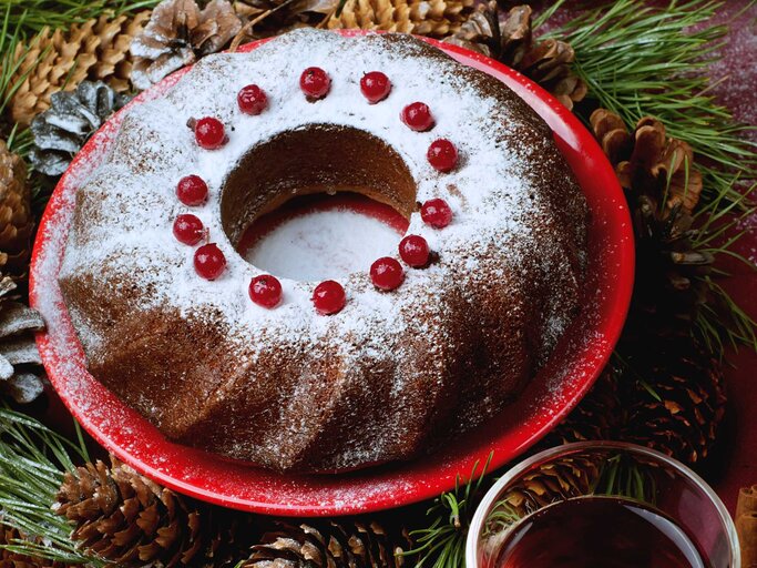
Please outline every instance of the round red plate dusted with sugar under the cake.
[[[30, 278], [31, 304], [48, 323], [37, 343], [50, 381], [81, 425], [120, 459], [177, 491], [228, 507], [291, 516], [366, 513], [434, 497], [452, 488], [458, 474], [468, 475], [492, 452], [493, 468], [507, 464], [589, 390], [620, 336], [634, 274], [631, 220], [613, 170], [579, 120], [538, 85], [491, 59], [426, 41], [501, 80], [523, 98], [553, 129], [586, 195], [592, 225], [585, 307], [552, 363], [501, 417], [444, 450], [410, 463], [334, 476], [279, 475], [167, 442], [86, 372], [57, 278], [76, 187], [109, 148], [122, 111], [88, 142], [58, 183], [40, 223]], [[130, 106], [161, 97], [185, 71], [143, 92]]]

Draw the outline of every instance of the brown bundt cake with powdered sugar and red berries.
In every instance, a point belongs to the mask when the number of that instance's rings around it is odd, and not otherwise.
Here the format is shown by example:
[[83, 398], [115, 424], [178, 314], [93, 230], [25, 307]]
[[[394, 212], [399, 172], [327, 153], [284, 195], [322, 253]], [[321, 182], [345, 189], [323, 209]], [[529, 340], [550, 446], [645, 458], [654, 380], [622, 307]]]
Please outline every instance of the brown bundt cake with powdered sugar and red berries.
[[[236, 251], [350, 191], [407, 235], [340, 282]], [[546, 124], [402, 34], [305, 29], [127, 109], [59, 275], [91, 374], [165, 436], [290, 471], [409, 459], [512, 403], [579, 311], [586, 205]]]

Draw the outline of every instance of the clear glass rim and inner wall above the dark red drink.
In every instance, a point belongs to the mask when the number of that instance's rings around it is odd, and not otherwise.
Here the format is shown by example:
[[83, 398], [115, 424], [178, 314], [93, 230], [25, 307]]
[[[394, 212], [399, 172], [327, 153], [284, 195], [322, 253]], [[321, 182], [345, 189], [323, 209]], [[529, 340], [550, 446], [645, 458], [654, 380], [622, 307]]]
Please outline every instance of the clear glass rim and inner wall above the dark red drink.
[[[508, 470], [475, 510], [466, 546], [466, 566], [500, 568], [505, 562], [503, 556], [509, 554], [503, 550], [521, 541], [528, 527], [536, 526], [538, 511], [555, 504], [564, 506], [571, 499], [597, 501], [605, 497], [634, 507], [638, 504], [655, 518], [669, 519], [696, 547], [704, 566], [740, 568], [736, 529], [715, 491], [679, 462], [618, 442], [566, 444]], [[612, 526], [613, 519], [607, 523]], [[575, 526], [565, 526], [564, 530], [570, 535]], [[545, 540], [543, 547], [557, 546], [544, 531], [534, 535]]]

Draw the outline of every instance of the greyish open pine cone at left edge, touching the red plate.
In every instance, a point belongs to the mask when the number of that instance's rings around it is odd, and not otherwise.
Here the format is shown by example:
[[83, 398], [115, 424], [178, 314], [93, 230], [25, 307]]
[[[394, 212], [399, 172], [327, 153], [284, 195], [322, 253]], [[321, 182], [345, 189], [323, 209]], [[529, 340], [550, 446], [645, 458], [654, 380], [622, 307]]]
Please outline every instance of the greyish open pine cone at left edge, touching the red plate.
[[16, 283], [0, 275], [0, 392], [19, 404], [35, 400], [43, 392], [42, 359], [32, 332], [44, 328], [42, 316], [18, 302]]

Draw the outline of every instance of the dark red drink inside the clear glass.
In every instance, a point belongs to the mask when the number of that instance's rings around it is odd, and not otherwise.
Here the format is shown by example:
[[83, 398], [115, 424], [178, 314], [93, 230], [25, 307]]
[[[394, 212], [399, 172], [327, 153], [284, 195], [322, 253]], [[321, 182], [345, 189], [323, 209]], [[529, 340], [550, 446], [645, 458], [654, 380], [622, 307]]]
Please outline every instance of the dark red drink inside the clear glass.
[[709, 568], [665, 514], [617, 497], [581, 497], [526, 517], [497, 568]]

